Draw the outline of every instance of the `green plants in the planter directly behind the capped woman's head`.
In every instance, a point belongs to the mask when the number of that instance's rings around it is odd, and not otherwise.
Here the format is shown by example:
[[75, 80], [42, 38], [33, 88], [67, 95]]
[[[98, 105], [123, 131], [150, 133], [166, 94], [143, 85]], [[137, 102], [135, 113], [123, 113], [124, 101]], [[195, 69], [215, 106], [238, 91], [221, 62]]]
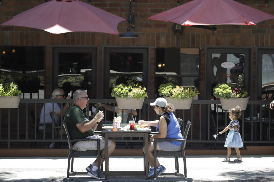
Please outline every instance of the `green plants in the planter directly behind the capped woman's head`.
[[172, 83], [167, 83], [167, 84], [161, 84], [159, 89], [158, 89], [159, 95], [160, 96], [167, 96], [171, 97], [173, 99], [188, 99], [188, 98], [193, 98], [197, 94], [199, 94], [198, 89], [195, 87], [194, 89], [192, 87], [180, 87], [180, 86], [175, 86]]

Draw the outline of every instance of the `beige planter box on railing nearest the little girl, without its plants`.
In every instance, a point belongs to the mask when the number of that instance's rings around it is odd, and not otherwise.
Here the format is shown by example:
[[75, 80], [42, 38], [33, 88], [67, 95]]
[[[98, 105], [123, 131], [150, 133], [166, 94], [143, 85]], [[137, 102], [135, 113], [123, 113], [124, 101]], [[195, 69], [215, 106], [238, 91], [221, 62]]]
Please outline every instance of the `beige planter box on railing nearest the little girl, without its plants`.
[[228, 110], [236, 106], [240, 106], [242, 110], [245, 110], [248, 100], [249, 100], [249, 96], [245, 98], [230, 98], [230, 99], [224, 99], [220, 97], [222, 109], [224, 110]]

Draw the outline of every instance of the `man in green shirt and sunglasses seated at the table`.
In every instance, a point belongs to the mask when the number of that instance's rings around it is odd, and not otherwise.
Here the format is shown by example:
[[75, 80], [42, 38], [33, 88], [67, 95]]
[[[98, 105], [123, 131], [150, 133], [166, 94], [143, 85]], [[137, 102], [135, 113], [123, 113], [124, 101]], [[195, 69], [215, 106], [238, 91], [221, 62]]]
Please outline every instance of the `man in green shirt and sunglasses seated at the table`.
[[[68, 132], [71, 139], [79, 138], [100, 138], [100, 163], [102, 164], [105, 160], [105, 139], [104, 137], [94, 135], [94, 130], [96, 130], [98, 124], [104, 117], [104, 114], [99, 111], [94, 118], [88, 119], [83, 109], [88, 105], [88, 95], [87, 90], [76, 90], [73, 94], [74, 104], [68, 109], [64, 117], [64, 122], [67, 123]], [[115, 142], [108, 140], [108, 156], [115, 149]], [[80, 141], [76, 142], [72, 146], [72, 150], [75, 151], [85, 151], [85, 150], [97, 150], [96, 141]], [[88, 175], [98, 179], [98, 164], [97, 159], [86, 167]], [[101, 173], [100, 179], [105, 179], [104, 175]]]

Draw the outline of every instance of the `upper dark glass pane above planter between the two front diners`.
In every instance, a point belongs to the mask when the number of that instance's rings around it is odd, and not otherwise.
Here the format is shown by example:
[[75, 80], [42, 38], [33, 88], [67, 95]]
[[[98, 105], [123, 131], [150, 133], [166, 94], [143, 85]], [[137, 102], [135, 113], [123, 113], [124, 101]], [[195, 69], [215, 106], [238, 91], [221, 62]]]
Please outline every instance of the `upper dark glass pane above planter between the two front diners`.
[[147, 59], [146, 48], [106, 48], [104, 98], [110, 98], [112, 88], [126, 84], [130, 77], [147, 88]]

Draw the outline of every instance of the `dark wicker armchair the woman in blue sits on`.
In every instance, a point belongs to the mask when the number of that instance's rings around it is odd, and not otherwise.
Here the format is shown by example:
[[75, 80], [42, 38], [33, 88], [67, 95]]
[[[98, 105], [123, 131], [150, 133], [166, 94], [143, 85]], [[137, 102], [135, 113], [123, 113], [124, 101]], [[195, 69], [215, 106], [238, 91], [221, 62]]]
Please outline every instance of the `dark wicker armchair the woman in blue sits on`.
[[[178, 121], [182, 120], [178, 118]], [[179, 122], [180, 123], [180, 122]], [[172, 139], [172, 138], [154, 138], [154, 180], [156, 180], [156, 158], [157, 156], [172, 156], [175, 158], [175, 169], [177, 171], [177, 174], [179, 174], [179, 162], [178, 157], [182, 157], [184, 160], [184, 172], [185, 172], [185, 179], [187, 179], [186, 174], [186, 154], [185, 154], [185, 147], [186, 147], [186, 138], [188, 136], [188, 130], [190, 128], [191, 122], [188, 121], [185, 127], [185, 132], [183, 135], [184, 139]], [[163, 150], [156, 150], [157, 141], [178, 141], [182, 142], [182, 150], [181, 151], [163, 151]]]

